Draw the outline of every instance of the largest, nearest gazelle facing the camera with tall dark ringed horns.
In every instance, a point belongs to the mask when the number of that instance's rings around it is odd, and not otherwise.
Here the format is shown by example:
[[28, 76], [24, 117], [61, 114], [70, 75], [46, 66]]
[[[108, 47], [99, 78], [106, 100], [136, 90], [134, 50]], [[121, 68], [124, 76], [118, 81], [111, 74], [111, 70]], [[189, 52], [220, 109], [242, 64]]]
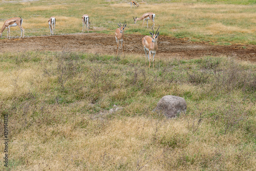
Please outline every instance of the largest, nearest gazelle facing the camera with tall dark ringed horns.
[[[160, 26], [159, 26], [160, 27]], [[159, 29], [158, 27], [158, 29]], [[157, 29], [157, 31], [158, 31]], [[157, 53], [157, 39], [159, 36], [159, 32], [156, 31], [156, 34], [154, 33], [154, 29], [153, 33], [150, 32], [150, 34], [152, 35], [152, 38], [150, 36], [145, 36], [142, 38], [142, 45], [145, 51], [145, 54], [147, 56], [147, 51], [148, 51], [148, 61], [151, 61], [151, 53], [153, 53], [153, 68], [155, 67], [155, 55]], [[148, 66], [148, 68], [150, 68], [150, 65]]]

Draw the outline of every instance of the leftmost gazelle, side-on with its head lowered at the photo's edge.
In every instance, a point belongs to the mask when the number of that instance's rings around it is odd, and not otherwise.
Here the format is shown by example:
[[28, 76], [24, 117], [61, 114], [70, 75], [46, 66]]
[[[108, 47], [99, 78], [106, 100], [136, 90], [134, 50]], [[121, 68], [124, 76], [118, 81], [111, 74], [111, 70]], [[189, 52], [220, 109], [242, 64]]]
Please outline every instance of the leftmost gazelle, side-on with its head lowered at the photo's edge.
[[[14, 18], [10, 18], [10, 19], [7, 19], [2, 27], [2, 29], [0, 30], [0, 37], [2, 37], [2, 33], [5, 29], [8, 29], [7, 31], [7, 38], [8, 38], [8, 35], [9, 36], [9, 39], [11, 38], [11, 33], [10, 33], [10, 27], [16, 27], [18, 26], [20, 28], [20, 30], [22, 31], [23, 33], [23, 38], [24, 38], [24, 28], [22, 27], [22, 22], [23, 22], [23, 19], [20, 18], [20, 17], [14, 17]], [[22, 38], [22, 34], [20, 34], [20, 38]]]

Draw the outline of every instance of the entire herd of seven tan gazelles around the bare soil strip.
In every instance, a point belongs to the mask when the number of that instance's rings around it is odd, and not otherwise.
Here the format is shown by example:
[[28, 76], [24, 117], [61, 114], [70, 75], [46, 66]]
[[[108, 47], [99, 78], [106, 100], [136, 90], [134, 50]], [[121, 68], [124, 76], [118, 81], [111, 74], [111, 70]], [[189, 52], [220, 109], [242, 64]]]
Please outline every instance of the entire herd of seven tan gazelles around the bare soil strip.
[[[131, 1], [131, 8], [132, 8], [132, 5], [134, 7], [135, 6], [139, 7], [139, 5], [134, 1]], [[153, 12], [144, 13], [139, 18], [133, 16], [134, 24], [136, 24], [136, 22], [138, 20], [143, 19], [143, 23], [142, 23], [141, 28], [143, 27], [145, 20], [146, 20], [147, 28], [148, 28], [148, 20], [150, 19], [153, 22], [153, 25], [152, 25], [153, 33], [150, 32], [150, 34], [152, 35], [152, 38], [150, 36], [144, 36], [142, 38], [143, 49], [145, 51], [146, 57], [148, 57], [148, 61], [150, 62], [149, 65], [148, 65], [149, 68], [151, 66], [151, 54], [153, 54], [153, 68], [155, 67], [155, 65], [154, 65], [155, 55], [156, 55], [156, 52], [157, 52], [157, 49], [158, 49], [157, 39], [158, 39], [158, 36], [159, 36], [158, 30], [159, 30], [160, 26], [158, 27], [156, 33], [154, 33], [155, 17], [156, 17], [156, 14], [153, 13]], [[20, 30], [22, 31], [23, 38], [24, 38], [24, 28], [22, 27], [22, 23], [23, 23], [23, 19], [21, 17], [14, 17], [14, 18], [7, 19], [5, 21], [2, 29], [0, 30], [0, 37], [2, 37], [3, 31], [5, 29], [8, 29], [7, 38], [9, 36], [9, 39], [10, 39], [10, 37], [11, 37], [10, 27], [18, 26], [20, 28]], [[53, 16], [50, 17], [49, 20], [48, 20], [48, 24], [49, 24], [49, 28], [50, 28], [50, 35], [54, 35], [55, 25], [56, 25], [56, 18], [53, 17]], [[89, 15], [84, 14], [82, 16], [82, 33], [84, 33], [84, 31], [86, 31], [86, 28], [87, 28], [87, 32], [89, 33], [90, 25], [91, 25], [91, 22], [90, 22], [90, 19], [89, 19]], [[117, 25], [118, 25], [119, 28], [117, 28], [116, 32], [115, 32], [115, 38], [116, 38], [116, 42], [117, 42], [116, 54], [118, 54], [118, 49], [119, 49], [120, 43], [121, 43], [122, 51], [124, 53], [123, 41], [124, 41], [124, 28], [126, 27], [126, 22], [124, 21], [123, 25], [121, 25], [121, 23], [119, 22], [119, 24], [117, 24]], [[22, 33], [20, 34], [20, 38], [22, 38]]]

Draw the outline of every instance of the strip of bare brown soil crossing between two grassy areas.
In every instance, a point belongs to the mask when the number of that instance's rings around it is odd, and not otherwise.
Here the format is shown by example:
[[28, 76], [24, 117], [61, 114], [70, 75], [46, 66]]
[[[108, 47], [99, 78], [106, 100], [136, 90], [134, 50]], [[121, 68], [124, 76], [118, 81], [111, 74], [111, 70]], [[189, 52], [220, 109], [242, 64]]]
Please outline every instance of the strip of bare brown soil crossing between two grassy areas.
[[[144, 56], [143, 35], [125, 35], [124, 53]], [[199, 58], [202, 56], [230, 56], [240, 60], [256, 62], [255, 45], [209, 45], [204, 42], [190, 42], [185, 39], [161, 36], [158, 40], [156, 58]], [[89, 53], [115, 54], [117, 44], [114, 35], [99, 33], [78, 33], [55, 36], [35, 36], [24, 39], [0, 40], [1, 52], [17, 51], [82, 51]], [[122, 50], [119, 49], [121, 54]]]

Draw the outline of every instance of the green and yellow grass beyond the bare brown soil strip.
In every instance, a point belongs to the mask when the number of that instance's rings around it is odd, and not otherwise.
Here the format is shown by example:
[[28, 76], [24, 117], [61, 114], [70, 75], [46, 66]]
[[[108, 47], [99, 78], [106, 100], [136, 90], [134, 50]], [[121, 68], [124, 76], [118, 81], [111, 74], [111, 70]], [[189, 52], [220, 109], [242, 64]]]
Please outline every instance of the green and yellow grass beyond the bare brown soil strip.
[[[93, 19], [92, 31], [113, 34], [119, 20], [126, 20], [126, 34], [148, 34], [147, 29], [140, 29], [142, 21], [133, 24], [132, 16], [139, 17], [152, 11], [156, 13], [156, 25], [161, 26], [162, 35], [215, 44], [255, 44], [255, 5], [253, 1], [242, 2], [215, 1], [212, 4], [212, 1], [158, 1], [155, 4], [156, 1], [147, 1], [140, 2], [140, 7], [136, 9], [131, 9], [128, 3], [102, 0], [4, 3], [1, 4], [0, 15], [3, 20], [0, 20], [0, 25], [7, 18], [21, 16], [27, 36], [48, 35], [47, 21], [50, 16], [55, 16], [57, 34], [77, 33], [81, 32], [81, 16], [87, 13]], [[149, 24], [152, 25], [151, 22]], [[19, 32], [18, 28], [12, 28], [11, 34], [19, 35]]]

